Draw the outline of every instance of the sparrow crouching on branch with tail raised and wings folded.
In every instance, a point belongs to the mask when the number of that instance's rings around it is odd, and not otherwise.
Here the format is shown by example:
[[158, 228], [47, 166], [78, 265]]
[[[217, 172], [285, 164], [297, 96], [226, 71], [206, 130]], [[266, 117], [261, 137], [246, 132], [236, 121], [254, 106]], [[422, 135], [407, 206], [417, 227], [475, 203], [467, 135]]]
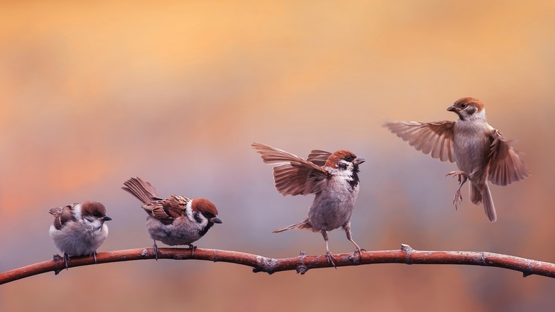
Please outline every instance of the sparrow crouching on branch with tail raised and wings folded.
[[189, 245], [191, 252], [196, 248], [192, 243], [208, 232], [214, 223], [221, 223], [216, 206], [206, 198], [186, 198], [170, 195], [157, 196], [156, 189], [139, 177], [126, 181], [125, 191], [131, 193], [146, 211], [146, 229], [154, 240], [154, 254], [158, 259], [156, 240], [167, 245]]

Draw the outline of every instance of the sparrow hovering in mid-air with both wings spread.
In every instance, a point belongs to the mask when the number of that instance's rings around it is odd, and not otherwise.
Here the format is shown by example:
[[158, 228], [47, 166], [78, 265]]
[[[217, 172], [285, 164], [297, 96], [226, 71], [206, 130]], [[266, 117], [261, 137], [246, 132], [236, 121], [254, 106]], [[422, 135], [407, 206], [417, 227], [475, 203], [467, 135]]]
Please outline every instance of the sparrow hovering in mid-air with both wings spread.
[[505, 186], [528, 177], [528, 168], [499, 130], [486, 121], [484, 104], [476, 98], [460, 98], [447, 110], [459, 115], [457, 121], [421, 123], [392, 121], [385, 126], [416, 150], [431, 154], [442, 162], [456, 162], [460, 171], [453, 204], [462, 202], [461, 187], [470, 180], [470, 201], [484, 202], [486, 216], [497, 220], [487, 180]]

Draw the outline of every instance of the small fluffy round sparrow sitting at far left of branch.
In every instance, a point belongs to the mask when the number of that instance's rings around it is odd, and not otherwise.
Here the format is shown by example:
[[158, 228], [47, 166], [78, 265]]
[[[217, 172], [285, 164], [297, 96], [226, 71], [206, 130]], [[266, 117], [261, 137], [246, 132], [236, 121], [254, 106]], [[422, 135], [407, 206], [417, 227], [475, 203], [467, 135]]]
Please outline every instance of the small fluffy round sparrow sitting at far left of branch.
[[49, 213], [54, 216], [49, 234], [56, 247], [64, 252], [65, 268], [69, 256], [92, 254], [96, 263], [96, 249], [108, 236], [108, 226], [104, 221], [112, 220], [106, 215], [104, 205], [87, 200], [52, 208]]

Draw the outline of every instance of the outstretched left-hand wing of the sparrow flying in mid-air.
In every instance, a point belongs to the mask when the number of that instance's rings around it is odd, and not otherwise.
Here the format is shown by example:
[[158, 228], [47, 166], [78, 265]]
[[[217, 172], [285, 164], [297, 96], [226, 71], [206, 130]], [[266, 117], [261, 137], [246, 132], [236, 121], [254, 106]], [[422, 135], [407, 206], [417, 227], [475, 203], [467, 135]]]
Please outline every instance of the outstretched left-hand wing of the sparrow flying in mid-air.
[[422, 150], [422, 153], [439, 158], [442, 162], [455, 162], [454, 124], [454, 121], [390, 121], [384, 126], [403, 141], [408, 141], [416, 150]]

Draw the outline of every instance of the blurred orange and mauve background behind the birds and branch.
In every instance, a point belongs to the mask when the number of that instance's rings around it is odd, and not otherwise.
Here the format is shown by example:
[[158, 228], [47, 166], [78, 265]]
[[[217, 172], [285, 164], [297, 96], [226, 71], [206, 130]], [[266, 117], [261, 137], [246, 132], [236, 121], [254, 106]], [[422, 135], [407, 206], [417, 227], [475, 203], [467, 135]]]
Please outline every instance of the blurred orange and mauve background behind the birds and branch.
[[[313, 196], [284, 198], [250, 144], [366, 158], [352, 229], [367, 250], [474, 250], [555, 261], [553, 1], [19, 1], [0, 5], [0, 270], [51, 259], [48, 209], [98, 200], [99, 252], [150, 248], [122, 191], [206, 197], [223, 224], [199, 248], [323, 254], [277, 227]], [[492, 187], [497, 223], [456, 211], [454, 164], [413, 150], [390, 119], [455, 120], [462, 96], [524, 153], [531, 177]], [[541, 140], [547, 140], [547, 144]], [[341, 230], [332, 252], [351, 252]], [[1, 311], [553, 309], [553, 279], [498, 268], [382, 264], [253, 274], [203, 261], [130, 261], [0, 287]]]

